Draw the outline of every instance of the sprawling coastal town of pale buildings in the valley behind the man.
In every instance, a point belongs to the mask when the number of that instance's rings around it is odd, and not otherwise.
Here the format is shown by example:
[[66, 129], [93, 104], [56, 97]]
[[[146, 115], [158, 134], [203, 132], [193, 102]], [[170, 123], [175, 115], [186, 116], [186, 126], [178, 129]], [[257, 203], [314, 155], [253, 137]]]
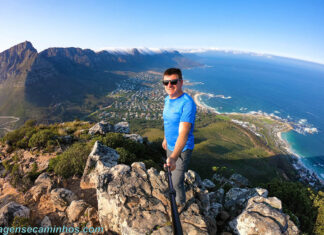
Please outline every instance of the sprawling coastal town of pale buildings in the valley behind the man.
[[[162, 120], [166, 93], [161, 83], [161, 77], [161, 74], [142, 72], [121, 81], [117, 84], [117, 89], [107, 95], [107, 97], [113, 98], [114, 102], [101, 108], [96, 114], [101, 120], [110, 121]], [[190, 85], [192, 84], [185, 81], [185, 87]], [[191, 89], [185, 89], [185, 92], [192, 97], [198, 94]], [[197, 109], [199, 112], [212, 112], [201, 105], [198, 105]]]

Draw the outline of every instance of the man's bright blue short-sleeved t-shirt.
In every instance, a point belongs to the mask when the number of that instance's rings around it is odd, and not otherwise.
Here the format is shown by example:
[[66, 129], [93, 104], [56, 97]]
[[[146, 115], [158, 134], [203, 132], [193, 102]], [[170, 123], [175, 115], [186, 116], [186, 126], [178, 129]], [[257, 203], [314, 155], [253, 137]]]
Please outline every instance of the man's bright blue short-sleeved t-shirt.
[[169, 150], [174, 150], [174, 146], [179, 136], [180, 122], [190, 122], [192, 124], [187, 143], [182, 152], [194, 148], [193, 129], [195, 117], [196, 104], [188, 94], [183, 93], [176, 99], [170, 99], [169, 96], [165, 98], [163, 109], [164, 135]]

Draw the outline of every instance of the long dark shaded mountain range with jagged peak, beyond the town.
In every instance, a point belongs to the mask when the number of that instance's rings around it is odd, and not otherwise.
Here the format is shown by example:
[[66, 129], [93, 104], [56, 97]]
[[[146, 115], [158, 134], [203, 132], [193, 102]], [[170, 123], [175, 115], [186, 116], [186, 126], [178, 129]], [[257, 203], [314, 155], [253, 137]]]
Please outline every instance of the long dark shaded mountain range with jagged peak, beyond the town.
[[0, 115], [64, 121], [107, 105], [107, 92], [126, 79], [114, 71], [163, 71], [200, 64], [178, 51], [147, 53], [81, 48], [37, 52], [26, 41], [0, 53]]

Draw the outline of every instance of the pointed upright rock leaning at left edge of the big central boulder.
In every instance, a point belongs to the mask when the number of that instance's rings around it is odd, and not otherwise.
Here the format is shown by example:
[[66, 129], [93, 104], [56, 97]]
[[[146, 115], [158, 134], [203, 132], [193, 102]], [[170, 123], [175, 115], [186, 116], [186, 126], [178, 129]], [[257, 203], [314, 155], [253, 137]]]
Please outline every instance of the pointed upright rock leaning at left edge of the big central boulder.
[[96, 141], [83, 171], [80, 183], [81, 187], [96, 187], [98, 175], [109, 168], [116, 166], [118, 159], [119, 154], [116, 152], [116, 150], [101, 144], [99, 141]]

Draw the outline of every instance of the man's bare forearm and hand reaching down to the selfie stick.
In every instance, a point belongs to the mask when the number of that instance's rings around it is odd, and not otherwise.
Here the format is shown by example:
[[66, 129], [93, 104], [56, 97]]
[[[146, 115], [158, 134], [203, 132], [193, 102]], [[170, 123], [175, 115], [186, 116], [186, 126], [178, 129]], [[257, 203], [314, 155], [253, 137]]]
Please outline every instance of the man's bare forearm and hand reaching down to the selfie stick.
[[173, 171], [176, 168], [176, 161], [180, 156], [184, 146], [187, 143], [190, 129], [191, 129], [190, 122], [180, 122], [179, 136], [177, 138], [177, 142], [175, 144], [172, 154], [167, 159], [167, 165], [170, 166], [171, 171]]

